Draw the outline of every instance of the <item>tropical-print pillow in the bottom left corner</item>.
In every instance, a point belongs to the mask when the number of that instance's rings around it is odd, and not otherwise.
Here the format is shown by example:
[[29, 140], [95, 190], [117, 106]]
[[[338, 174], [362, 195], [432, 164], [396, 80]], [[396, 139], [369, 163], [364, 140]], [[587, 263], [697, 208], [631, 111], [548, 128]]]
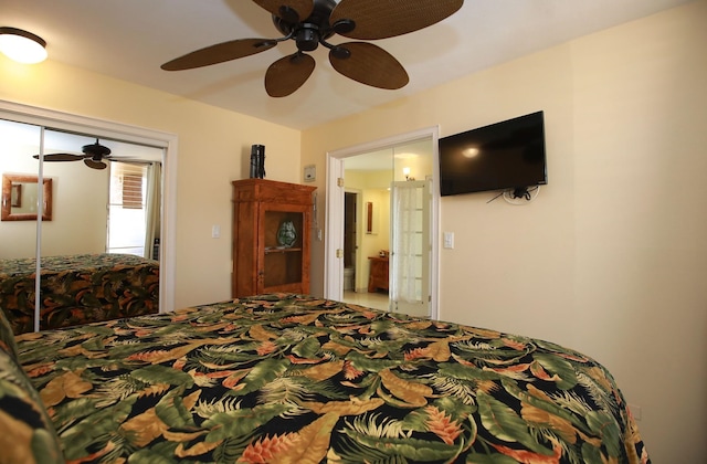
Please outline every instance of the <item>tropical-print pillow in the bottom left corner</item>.
[[6, 349], [0, 349], [0, 464], [64, 463], [39, 393]]

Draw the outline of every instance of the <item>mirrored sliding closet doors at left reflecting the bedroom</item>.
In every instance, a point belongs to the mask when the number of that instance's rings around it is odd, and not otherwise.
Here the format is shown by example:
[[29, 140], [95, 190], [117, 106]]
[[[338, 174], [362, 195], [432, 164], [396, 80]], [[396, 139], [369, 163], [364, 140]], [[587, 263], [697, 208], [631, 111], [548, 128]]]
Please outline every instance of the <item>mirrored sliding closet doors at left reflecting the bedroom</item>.
[[[44, 320], [44, 313], [85, 299], [81, 287], [88, 277], [62, 281], [64, 287], [50, 294], [32, 282], [38, 272], [45, 278], [42, 266], [56, 266], [57, 275], [76, 265], [93, 266], [92, 260], [105, 262], [108, 254], [159, 260], [162, 158], [163, 148], [0, 119], [3, 308], [17, 307], [15, 316], [22, 317], [19, 307], [34, 304]], [[91, 292], [116, 293], [117, 280]]]

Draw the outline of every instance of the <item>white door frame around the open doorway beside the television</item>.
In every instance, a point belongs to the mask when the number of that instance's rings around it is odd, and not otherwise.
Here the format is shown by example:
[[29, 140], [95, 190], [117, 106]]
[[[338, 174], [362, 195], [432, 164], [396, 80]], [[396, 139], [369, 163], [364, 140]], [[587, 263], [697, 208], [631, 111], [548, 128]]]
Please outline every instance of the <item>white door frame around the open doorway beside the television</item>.
[[327, 196], [326, 196], [326, 239], [324, 262], [324, 297], [340, 300], [344, 296], [344, 260], [337, 257], [337, 250], [344, 250], [344, 193], [345, 186], [339, 186], [338, 179], [344, 179], [344, 160], [346, 158], [404, 145], [423, 138], [432, 138], [432, 219], [430, 224], [432, 250], [430, 265], [430, 317], [439, 317], [440, 287], [440, 196], [437, 179], [440, 178], [439, 139], [440, 127], [431, 126], [392, 137], [382, 138], [352, 147], [327, 152]]

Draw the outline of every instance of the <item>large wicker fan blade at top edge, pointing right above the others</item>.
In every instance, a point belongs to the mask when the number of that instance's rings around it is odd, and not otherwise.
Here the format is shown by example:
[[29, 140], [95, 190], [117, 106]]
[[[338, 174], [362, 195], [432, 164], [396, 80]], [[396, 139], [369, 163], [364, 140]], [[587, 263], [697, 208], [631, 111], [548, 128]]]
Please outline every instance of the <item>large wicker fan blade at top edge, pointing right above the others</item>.
[[341, 0], [331, 11], [329, 23], [347, 38], [386, 39], [440, 22], [462, 4], [464, 0]]

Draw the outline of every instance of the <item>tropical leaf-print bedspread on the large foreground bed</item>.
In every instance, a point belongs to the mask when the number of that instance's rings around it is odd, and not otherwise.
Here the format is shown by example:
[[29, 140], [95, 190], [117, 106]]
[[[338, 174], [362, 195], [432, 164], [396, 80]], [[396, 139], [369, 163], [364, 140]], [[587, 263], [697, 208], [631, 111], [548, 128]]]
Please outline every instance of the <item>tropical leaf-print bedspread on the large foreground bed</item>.
[[648, 462], [611, 375], [495, 330], [298, 295], [23, 334], [68, 462]]

